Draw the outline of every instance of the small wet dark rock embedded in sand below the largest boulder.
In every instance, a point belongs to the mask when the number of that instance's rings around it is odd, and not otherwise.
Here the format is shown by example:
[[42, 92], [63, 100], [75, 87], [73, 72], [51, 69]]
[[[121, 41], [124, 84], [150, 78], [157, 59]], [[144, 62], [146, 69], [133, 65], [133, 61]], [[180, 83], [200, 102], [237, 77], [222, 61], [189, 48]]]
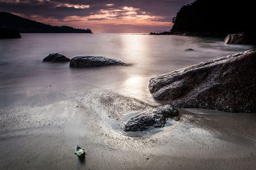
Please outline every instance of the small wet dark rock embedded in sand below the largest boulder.
[[124, 131], [144, 131], [148, 127], [164, 127], [167, 118], [179, 115], [179, 111], [170, 105], [160, 106], [152, 110], [143, 111], [132, 117], [124, 127]]

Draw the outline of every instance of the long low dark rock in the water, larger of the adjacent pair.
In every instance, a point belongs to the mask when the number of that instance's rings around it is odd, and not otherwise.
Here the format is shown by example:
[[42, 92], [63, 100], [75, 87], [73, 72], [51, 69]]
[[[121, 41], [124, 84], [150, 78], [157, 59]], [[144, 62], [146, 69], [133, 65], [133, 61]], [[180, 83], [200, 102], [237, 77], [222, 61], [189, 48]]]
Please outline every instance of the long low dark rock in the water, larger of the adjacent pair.
[[99, 66], [125, 66], [120, 60], [107, 57], [78, 56], [70, 61], [70, 67], [99, 67]]

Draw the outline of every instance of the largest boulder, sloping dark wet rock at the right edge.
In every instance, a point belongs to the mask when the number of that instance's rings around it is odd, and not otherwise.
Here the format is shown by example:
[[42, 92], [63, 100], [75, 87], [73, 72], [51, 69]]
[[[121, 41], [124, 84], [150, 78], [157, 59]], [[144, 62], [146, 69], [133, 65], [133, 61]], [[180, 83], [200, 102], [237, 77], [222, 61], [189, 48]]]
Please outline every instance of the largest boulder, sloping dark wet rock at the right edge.
[[256, 50], [202, 62], [150, 80], [154, 99], [173, 106], [256, 113]]

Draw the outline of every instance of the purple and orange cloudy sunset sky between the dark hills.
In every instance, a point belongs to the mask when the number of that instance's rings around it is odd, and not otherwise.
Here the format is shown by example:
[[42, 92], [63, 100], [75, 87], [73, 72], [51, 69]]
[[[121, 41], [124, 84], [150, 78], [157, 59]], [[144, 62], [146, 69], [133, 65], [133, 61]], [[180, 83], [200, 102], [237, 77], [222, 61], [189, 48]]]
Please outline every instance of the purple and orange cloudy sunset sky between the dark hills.
[[193, 0], [0, 0], [6, 11], [44, 24], [94, 33], [170, 31], [172, 18]]

